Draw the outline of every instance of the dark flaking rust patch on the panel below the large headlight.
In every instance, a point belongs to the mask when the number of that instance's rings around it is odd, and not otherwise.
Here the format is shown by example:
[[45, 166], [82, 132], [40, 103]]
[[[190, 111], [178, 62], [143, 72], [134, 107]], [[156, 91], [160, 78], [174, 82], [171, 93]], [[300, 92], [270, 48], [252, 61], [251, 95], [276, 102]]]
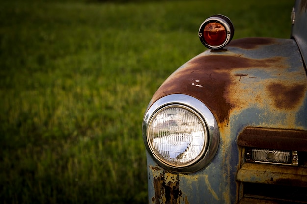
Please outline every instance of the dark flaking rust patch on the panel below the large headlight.
[[155, 198], [152, 198], [152, 201], [155, 200], [155, 204], [180, 204], [182, 192], [179, 184], [179, 175], [176, 176], [174, 182], [166, 181], [165, 172], [163, 171], [160, 176], [153, 179]]

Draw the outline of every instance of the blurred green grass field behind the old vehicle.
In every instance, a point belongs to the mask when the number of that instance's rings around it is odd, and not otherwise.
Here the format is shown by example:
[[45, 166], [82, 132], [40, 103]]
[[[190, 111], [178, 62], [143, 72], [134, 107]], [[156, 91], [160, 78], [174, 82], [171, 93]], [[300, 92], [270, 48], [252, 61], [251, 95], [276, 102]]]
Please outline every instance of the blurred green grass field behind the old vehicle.
[[221, 13], [234, 38], [289, 38], [293, 3], [2, 0], [0, 203], [146, 203], [143, 114], [205, 50], [200, 23]]

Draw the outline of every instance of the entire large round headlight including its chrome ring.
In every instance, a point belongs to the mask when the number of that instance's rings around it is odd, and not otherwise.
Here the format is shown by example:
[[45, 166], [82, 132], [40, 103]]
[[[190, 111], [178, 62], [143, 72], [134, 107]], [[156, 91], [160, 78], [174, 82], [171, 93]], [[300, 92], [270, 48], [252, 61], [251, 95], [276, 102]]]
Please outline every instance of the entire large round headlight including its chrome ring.
[[217, 122], [198, 99], [173, 94], [157, 100], [143, 120], [143, 138], [152, 158], [176, 172], [194, 172], [214, 157], [219, 144]]

